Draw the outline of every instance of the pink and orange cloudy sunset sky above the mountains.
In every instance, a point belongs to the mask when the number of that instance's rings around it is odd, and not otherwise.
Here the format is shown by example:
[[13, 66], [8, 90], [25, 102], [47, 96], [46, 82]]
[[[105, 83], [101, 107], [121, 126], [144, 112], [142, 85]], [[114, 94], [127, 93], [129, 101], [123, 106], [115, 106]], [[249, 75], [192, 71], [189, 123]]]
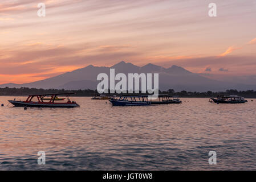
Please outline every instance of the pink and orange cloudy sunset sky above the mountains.
[[0, 84], [122, 60], [255, 76], [255, 22], [256, 0], [1, 0]]

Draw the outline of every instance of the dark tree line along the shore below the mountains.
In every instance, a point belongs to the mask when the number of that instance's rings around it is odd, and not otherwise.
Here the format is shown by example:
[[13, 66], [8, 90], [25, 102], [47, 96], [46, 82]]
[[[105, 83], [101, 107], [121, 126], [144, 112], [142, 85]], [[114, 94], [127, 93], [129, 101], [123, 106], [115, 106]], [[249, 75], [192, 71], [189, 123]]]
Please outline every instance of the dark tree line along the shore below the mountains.
[[[36, 89], [36, 88], [25, 88], [25, 87], [0, 88], [0, 96], [28, 96], [30, 94], [51, 94], [51, 93], [70, 93], [70, 92], [75, 93], [75, 96], [96, 96], [99, 94], [97, 90], [91, 90], [91, 89], [64, 90], [64, 89]], [[159, 94], [168, 94], [169, 96], [179, 96], [179, 97], [217, 97], [220, 95], [222, 96], [238, 95], [242, 97], [256, 98], [256, 91], [254, 90], [238, 91], [235, 89], [226, 90], [225, 92], [212, 92], [212, 91], [187, 92], [185, 90], [181, 92], [175, 92], [173, 89], [169, 89], [167, 91], [159, 90]], [[111, 95], [111, 94], [108, 94], [108, 95]], [[123, 95], [139, 95], [139, 94], [123, 94]]]

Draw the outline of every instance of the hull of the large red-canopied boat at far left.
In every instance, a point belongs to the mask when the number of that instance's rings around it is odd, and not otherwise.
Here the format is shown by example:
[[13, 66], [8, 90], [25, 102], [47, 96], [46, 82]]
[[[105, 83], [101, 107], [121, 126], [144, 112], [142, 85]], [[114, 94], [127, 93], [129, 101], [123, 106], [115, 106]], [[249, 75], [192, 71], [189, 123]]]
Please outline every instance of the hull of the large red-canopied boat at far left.
[[9, 101], [15, 107], [79, 107], [76, 103], [54, 103], [54, 104], [42, 104], [39, 102], [23, 102], [23, 101]]

